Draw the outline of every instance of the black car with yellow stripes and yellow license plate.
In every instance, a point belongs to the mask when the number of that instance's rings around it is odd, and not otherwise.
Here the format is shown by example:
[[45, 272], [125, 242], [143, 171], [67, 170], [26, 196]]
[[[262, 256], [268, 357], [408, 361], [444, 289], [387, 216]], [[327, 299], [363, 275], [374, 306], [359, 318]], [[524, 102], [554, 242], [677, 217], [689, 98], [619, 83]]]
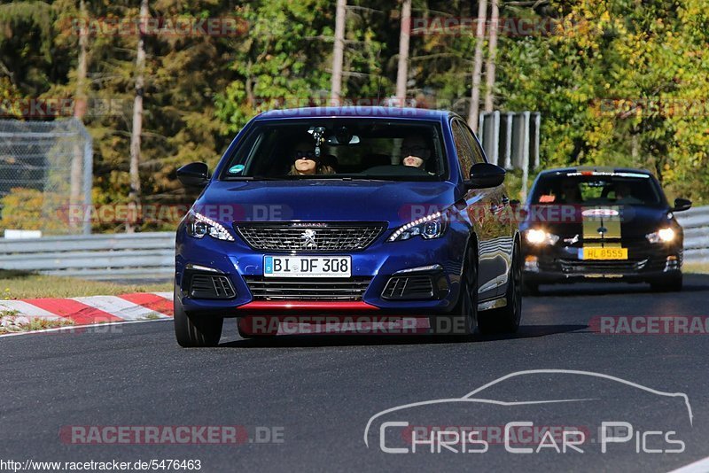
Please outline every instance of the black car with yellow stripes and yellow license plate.
[[611, 278], [681, 291], [683, 234], [674, 213], [690, 206], [684, 198], [669, 205], [658, 180], [640, 169], [541, 172], [520, 224], [526, 291]]

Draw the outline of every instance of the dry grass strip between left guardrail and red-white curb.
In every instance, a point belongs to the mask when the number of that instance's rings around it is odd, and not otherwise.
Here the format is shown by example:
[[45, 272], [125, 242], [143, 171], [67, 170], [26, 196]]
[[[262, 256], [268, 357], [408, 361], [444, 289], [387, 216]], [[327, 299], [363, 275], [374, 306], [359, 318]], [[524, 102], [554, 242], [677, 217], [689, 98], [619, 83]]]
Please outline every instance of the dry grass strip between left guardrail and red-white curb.
[[79, 298], [130, 292], [169, 292], [172, 283], [117, 284], [0, 269], [0, 299]]

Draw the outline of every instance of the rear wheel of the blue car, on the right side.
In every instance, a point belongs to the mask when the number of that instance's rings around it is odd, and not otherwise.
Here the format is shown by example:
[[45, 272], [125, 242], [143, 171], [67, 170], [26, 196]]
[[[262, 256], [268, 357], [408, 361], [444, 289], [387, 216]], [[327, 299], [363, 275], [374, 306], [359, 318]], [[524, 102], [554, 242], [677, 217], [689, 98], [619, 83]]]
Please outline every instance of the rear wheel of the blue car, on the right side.
[[484, 334], [515, 333], [519, 329], [519, 322], [522, 320], [522, 266], [518, 244], [515, 244], [512, 253], [512, 264], [507, 281], [505, 292], [507, 305], [478, 314], [480, 331]]

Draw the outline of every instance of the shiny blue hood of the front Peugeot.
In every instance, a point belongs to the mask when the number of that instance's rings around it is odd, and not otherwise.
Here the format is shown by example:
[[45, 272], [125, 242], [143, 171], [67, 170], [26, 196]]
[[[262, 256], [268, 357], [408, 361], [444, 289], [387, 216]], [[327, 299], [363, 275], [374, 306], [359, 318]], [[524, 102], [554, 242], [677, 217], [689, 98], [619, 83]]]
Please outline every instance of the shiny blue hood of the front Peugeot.
[[453, 204], [455, 190], [451, 182], [214, 181], [195, 208], [225, 222], [388, 221], [395, 226]]

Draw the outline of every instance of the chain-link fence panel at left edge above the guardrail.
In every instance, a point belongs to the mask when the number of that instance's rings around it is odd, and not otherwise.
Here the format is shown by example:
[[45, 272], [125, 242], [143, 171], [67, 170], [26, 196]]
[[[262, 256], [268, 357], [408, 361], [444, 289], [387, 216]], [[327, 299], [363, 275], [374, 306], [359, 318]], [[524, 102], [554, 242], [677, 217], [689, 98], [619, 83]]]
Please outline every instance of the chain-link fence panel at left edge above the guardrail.
[[68, 213], [90, 208], [92, 161], [79, 120], [0, 120], [0, 229], [89, 234]]

